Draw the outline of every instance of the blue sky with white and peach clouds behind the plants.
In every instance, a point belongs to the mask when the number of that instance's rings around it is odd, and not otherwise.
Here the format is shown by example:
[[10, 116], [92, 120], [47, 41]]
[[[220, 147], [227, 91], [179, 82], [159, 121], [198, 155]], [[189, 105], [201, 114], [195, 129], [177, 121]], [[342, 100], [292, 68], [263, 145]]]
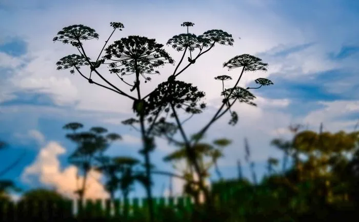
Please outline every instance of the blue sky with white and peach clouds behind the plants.
[[[128, 35], [154, 38], [165, 45], [176, 62], [182, 54], [166, 42], [186, 32], [181, 27], [183, 22], [193, 22], [189, 31], [197, 35], [211, 29], [232, 34], [233, 46], [216, 45], [178, 77], [206, 93], [208, 107], [186, 123], [188, 133], [200, 130], [221, 105], [221, 83], [213, 78], [228, 75], [236, 79], [240, 74], [238, 69], [223, 68], [224, 62], [248, 53], [269, 63], [267, 72], [245, 72], [240, 82], [242, 87], [255, 86], [257, 78], [274, 83], [252, 91], [257, 107], [234, 105], [238, 123], [228, 125], [227, 114], [206, 135], [206, 141], [223, 137], [232, 140], [218, 164], [226, 178], [234, 178], [237, 160], [245, 163], [244, 138], [250, 144], [256, 172], [262, 176], [268, 157], [283, 156], [270, 141], [290, 138], [290, 124], [303, 124], [314, 131], [321, 123], [329, 132], [354, 129], [359, 117], [358, 12], [359, 3], [354, 0], [0, 0], [0, 20], [6, 21], [0, 23], [0, 139], [9, 144], [8, 149], [0, 151], [0, 170], [26, 154], [0, 179], [14, 180], [24, 191], [45, 187], [73, 195], [76, 168], [67, 157], [75, 145], [65, 138], [62, 126], [74, 121], [83, 123], [86, 130], [103, 126], [122, 135], [124, 139], [111, 145], [109, 155], [142, 158], [138, 154], [140, 135], [121, 123], [134, 117], [131, 101], [90, 85], [68, 70], [56, 70], [59, 59], [76, 53], [71, 45], [52, 42], [63, 27], [83, 24], [95, 29], [99, 39], [84, 45], [89, 56], [95, 57], [112, 31], [110, 22], [121, 22], [125, 28], [115, 32], [110, 42]], [[108, 72], [106, 67], [100, 70]], [[161, 75], [144, 85], [144, 94], [165, 81], [174, 66], [158, 70]], [[106, 75], [127, 90], [126, 85]], [[233, 84], [228, 81], [225, 86]], [[157, 140], [151, 159], [158, 169], [178, 173], [162, 160], [175, 149], [165, 140]], [[250, 175], [245, 164], [244, 174]], [[101, 178], [101, 174], [91, 172], [88, 198], [107, 196], [96, 182]], [[210, 178], [216, 179], [215, 174]], [[154, 195], [168, 194], [168, 182], [167, 177], [155, 176]], [[174, 180], [176, 194], [181, 194], [182, 186], [181, 180]], [[144, 194], [141, 186], [131, 193], [137, 197]]]

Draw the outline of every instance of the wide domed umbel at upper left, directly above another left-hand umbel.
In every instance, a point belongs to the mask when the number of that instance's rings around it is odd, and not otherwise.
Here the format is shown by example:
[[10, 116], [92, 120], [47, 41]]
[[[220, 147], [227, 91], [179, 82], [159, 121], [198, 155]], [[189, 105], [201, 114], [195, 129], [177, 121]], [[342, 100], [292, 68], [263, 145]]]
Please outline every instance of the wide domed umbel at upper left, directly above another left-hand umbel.
[[94, 29], [84, 25], [72, 25], [57, 32], [57, 36], [53, 38], [53, 41], [60, 41], [64, 44], [71, 43], [73, 46], [78, 47], [81, 44], [80, 40], [91, 39], [98, 39], [98, 34]]

